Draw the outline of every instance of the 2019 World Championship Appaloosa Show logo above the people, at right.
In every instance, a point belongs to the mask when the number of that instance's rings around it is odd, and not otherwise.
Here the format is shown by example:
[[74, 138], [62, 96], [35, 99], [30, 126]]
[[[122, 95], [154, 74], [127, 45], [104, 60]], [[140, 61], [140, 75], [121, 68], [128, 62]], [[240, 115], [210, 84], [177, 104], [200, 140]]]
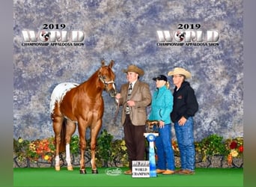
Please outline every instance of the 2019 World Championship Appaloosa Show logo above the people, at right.
[[219, 31], [200, 24], [178, 24], [177, 31], [156, 31], [157, 46], [219, 46]]

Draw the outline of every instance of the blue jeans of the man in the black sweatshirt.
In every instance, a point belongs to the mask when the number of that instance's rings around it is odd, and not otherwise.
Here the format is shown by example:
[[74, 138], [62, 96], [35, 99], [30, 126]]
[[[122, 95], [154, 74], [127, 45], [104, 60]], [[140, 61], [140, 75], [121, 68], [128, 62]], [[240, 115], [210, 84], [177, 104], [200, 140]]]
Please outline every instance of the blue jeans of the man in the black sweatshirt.
[[193, 118], [189, 117], [183, 126], [174, 123], [177, 144], [180, 150], [181, 169], [195, 171], [195, 144], [193, 134]]

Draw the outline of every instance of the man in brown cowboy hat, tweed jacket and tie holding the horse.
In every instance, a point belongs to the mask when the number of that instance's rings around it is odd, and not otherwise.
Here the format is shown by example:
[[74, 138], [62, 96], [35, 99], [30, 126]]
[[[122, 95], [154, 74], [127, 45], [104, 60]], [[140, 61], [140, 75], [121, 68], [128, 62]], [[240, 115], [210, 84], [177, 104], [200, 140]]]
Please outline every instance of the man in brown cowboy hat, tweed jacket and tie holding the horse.
[[144, 71], [135, 65], [126, 70], [127, 83], [121, 85], [121, 92], [115, 96], [123, 105], [121, 123], [124, 125], [124, 141], [127, 146], [129, 170], [124, 174], [132, 174], [132, 160], [144, 160], [144, 131], [147, 120], [146, 108], [151, 102], [149, 85], [139, 81]]

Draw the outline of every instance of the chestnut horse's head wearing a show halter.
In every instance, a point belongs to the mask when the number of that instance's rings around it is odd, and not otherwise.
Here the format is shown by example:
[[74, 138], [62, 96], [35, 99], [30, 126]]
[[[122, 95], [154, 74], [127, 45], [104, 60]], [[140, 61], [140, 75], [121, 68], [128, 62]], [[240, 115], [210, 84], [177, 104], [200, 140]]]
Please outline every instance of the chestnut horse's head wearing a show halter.
[[114, 61], [110, 61], [108, 66], [105, 66], [105, 62], [101, 61], [102, 66], [99, 70], [99, 79], [104, 84], [104, 89], [109, 93], [110, 96], [114, 97], [117, 94], [115, 88], [115, 73], [112, 71]]

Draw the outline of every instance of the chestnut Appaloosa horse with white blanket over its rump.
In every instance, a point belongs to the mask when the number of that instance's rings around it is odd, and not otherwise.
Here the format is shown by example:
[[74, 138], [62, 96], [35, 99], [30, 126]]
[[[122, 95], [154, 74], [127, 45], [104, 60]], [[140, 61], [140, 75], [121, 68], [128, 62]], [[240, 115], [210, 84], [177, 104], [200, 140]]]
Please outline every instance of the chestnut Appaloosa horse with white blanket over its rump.
[[85, 82], [63, 82], [52, 91], [50, 110], [53, 131], [55, 133], [55, 171], [60, 171], [59, 153], [66, 149], [67, 170], [73, 171], [70, 159], [70, 140], [79, 130], [80, 174], [86, 174], [85, 148], [86, 129], [91, 129], [91, 169], [93, 174], [98, 174], [95, 163], [95, 149], [97, 135], [102, 126], [104, 111], [103, 91], [115, 97], [115, 73], [112, 71], [114, 61], [101, 67]]

